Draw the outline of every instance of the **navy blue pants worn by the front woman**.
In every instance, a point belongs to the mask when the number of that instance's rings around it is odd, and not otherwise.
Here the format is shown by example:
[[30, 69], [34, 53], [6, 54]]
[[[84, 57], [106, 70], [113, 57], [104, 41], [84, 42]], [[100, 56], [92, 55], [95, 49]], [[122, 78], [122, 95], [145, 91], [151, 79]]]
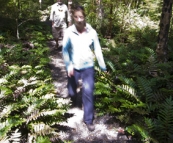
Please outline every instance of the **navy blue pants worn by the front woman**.
[[82, 103], [84, 107], [84, 122], [91, 124], [94, 119], [94, 68], [74, 70], [74, 76], [68, 77], [69, 96], [77, 95], [78, 80], [82, 79]]

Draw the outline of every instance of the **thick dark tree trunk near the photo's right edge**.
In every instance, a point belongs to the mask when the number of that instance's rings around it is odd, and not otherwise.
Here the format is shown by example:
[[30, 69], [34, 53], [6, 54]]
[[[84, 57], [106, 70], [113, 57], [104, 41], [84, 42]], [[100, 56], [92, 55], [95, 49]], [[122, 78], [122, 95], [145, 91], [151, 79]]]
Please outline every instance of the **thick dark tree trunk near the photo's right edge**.
[[156, 48], [156, 53], [160, 62], [166, 62], [168, 59], [168, 34], [170, 28], [170, 19], [172, 16], [172, 2], [173, 0], [163, 1], [162, 15], [159, 24], [160, 31]]

